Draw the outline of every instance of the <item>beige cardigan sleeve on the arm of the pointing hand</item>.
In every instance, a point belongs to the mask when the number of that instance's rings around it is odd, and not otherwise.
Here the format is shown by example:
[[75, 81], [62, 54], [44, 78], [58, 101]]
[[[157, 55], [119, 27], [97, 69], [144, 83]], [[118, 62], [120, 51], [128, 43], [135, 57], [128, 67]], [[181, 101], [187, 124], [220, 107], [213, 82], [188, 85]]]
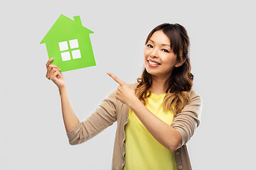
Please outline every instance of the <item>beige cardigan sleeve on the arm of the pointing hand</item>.
[[191, 139], [200, 124], [203, 101], [200, 95], [191, 91], [190, 101], [184, 106], [181, 113], [177, 113], [171, 127], [177, 130], [182, 138], [182, 145]]

